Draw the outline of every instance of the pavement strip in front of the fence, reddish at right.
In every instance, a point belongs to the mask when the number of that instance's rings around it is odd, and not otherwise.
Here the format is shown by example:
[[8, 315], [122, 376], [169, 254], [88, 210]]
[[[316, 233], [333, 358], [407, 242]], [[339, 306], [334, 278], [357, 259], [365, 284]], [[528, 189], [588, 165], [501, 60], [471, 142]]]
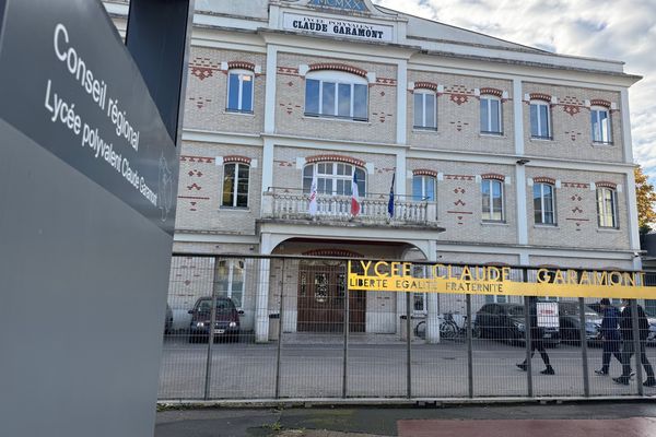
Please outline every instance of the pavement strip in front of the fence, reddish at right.
[[155, 437], [656, 437], [656, 402], [157, 413]]

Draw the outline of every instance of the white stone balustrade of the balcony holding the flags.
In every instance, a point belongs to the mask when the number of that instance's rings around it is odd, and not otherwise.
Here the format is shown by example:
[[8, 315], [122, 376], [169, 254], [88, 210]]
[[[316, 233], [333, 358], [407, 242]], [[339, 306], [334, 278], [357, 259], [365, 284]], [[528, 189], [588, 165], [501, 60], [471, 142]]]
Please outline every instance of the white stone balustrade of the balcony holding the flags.
[[[436, 205], [433, 202], [395, 200], [393, 217], [387, 212], [387, 199], [361, 198], [358, 220], [370, 224], [434, 225], [436, 222]], [[313, 217], [306, 193], [268, 191], [262, 196], [262, 218], [347, 222], [353, 218], [351, 197], [318, 194], [317, 213]]]

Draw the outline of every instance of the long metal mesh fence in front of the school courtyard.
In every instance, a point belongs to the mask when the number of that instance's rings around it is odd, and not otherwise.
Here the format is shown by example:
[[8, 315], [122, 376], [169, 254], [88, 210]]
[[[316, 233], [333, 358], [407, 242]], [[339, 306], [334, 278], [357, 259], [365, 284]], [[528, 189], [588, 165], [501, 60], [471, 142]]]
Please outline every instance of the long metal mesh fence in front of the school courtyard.
[[[656, 395], [643, 386], [640, 353], [626, 385], [612, 379], [622, 374], [621, 355], [611, 354], [609, 375], [595, 373], [604, 353], [598, 299], [349, 292], [347, 261], [174, 257], [159, 398]], [[421, 274], [422, 264], [414, 268]], [[527, 290], [536, 281], [530, 269], [513, 268], [512, 276]], [[654, 309], [654, 302], [640, 304]], [[649, 320], [641, 343], [633, 318], [635, 351], [656, 344], [656, 319]], [[655, 362], [655, 352], [646, 347], [645, 356]]]

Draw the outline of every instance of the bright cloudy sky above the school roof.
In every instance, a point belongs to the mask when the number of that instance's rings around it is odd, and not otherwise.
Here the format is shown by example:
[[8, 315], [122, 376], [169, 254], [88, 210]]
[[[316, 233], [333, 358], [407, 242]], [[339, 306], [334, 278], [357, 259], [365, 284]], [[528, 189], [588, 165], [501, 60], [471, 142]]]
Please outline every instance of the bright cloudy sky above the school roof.
[[417, 16], [562, 55], [624, 61], [633, 156], [656, 184], [656, 0], [373, 0]]

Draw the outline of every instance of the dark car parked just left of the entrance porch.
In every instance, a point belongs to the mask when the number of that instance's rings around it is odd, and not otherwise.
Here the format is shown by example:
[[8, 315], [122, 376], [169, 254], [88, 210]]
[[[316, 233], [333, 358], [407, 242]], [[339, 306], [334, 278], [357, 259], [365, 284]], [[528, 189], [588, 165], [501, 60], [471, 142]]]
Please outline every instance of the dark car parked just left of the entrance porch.
[[200, 297], [189, 310], [191, 322], [189, 326], [189, 343], [214, 341], [237, 341], [239, 338], [239, 315], [235, 304], [227, 297], [216, 297], [216, 312], [214, 327], [211, 324], [212, 298]]

